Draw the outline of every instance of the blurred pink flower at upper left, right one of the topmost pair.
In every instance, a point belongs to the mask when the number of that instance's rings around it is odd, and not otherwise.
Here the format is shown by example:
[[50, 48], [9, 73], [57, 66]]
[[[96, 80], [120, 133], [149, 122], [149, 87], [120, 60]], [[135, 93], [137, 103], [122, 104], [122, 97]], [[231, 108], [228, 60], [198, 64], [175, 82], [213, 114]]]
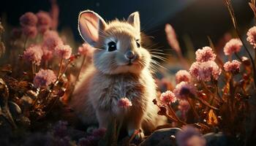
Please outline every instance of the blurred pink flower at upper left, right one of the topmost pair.
[[37, 26], [38, 26], [39, 32], [43, 34], [51, 26], [50, 15], [48, 12], [40, 11], [40, 12], [37, 12], [37, 18], [38, 18]]

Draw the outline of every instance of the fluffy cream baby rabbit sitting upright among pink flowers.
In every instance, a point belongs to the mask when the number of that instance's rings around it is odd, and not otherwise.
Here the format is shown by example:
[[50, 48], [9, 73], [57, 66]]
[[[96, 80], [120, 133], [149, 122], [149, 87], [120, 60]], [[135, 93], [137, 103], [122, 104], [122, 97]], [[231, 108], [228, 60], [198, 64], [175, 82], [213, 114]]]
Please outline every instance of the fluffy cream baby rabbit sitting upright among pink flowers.
[[[80, 36], [94, 50], [92, 64], [75, 85], [70, 105], [86, 124], [98, 123], [107, 128], [110, 119], [124, 121], [129, 136], [135, 130], [150, 133], [164, 124], [164, 116], [157, 115], [157, 86], [151, 69], [151, 54], [140, 45], [140, 17], [133, 12], [125, 20], [106, 23], [96, 12], [80, 12]], [[123, 110], [118, 99], [132, 101]], [[139, 137], [143, 137], [143, 132]]]

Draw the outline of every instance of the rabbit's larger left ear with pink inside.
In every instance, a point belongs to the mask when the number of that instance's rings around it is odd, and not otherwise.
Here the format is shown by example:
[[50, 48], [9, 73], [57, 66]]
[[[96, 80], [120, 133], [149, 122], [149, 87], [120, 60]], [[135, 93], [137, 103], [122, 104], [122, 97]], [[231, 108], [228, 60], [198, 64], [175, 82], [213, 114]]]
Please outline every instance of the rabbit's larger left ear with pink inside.
[[78, 31], [80, 36], [94, 46], [99, 40], [99, 34], [105, 30], [107, 23], [96, 12], [86, 10], [78, 17]]

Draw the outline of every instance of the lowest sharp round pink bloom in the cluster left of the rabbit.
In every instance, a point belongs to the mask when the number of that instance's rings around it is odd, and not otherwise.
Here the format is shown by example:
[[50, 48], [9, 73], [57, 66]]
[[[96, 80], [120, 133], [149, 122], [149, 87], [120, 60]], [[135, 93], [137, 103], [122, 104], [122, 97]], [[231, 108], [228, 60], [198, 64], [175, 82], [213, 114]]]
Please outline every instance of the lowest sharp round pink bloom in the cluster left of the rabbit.
[[42, 86], [48, 86], [55, 82], [57, 79], [54, 72], [50, 69], [40, 69], [34, 77], [34, 86], [40, 88]]

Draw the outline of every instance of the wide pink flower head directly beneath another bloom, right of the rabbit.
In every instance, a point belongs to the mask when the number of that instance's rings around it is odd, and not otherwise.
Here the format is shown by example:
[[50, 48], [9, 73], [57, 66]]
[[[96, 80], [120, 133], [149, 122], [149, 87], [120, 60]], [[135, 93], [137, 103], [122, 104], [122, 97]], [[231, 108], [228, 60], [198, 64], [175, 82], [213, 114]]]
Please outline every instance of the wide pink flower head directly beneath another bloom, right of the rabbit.
[[194, 62], [189, 69], [189, 73], [197, 80], [210, 81], [211, 77], [217, 80], [222, 73], [222, 69], [214, 61]]

